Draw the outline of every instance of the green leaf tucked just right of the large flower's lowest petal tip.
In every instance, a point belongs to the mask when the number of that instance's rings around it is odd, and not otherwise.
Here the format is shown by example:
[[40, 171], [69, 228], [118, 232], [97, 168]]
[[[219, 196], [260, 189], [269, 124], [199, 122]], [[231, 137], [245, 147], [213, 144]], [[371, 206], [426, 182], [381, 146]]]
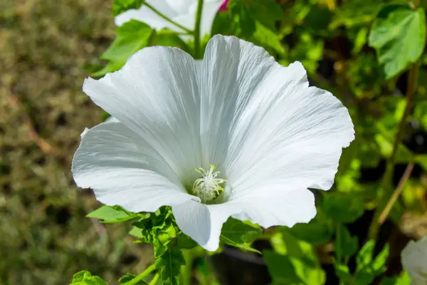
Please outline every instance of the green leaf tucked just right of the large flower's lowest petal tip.
[[263, 231], [260, 227], [245, 224], [238, 219], [228, 218], [227, 222], [223, 224], [220, 240], [221, 242], [233, 247], [238, 247], [251, 252], [258, 252], [257, 250], [249, 247], [248, 244], [259, 237], [262, 232]]

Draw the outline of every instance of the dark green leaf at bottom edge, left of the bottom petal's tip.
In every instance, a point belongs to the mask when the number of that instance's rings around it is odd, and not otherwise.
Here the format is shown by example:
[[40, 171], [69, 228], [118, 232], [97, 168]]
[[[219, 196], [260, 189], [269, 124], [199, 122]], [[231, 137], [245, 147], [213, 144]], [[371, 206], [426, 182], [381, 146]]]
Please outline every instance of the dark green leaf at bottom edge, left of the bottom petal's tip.
[[156, 260], [156, 268], [161, 270], [160, 276], [164, 285], [179, 284], [181, 266], [185, 265], [185, 259], [181, 251], [168, 250], [162, 257]]

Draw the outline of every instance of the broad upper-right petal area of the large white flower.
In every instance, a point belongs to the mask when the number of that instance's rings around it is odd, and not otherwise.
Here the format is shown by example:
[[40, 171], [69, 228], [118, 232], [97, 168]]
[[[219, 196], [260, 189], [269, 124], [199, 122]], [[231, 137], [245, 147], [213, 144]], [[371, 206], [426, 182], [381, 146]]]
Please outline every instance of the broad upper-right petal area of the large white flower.
[[276, 191], [332, 186], [352, 120], [331, 93], [308, 87], [300, 63], [286, 68], [252, 43], [214, 36], [203, 72], [202, 147], [223, 162], [236, 195], [266, 182], [283, 185]]

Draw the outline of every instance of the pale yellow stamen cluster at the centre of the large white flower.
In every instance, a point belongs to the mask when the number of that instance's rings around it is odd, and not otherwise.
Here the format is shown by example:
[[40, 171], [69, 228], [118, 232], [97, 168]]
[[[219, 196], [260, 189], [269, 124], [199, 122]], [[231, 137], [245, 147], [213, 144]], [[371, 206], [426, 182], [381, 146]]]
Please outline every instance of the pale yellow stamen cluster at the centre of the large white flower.
[[221, 172], [214, 172], [215, 168], [215, 165], [211, 165], [209, 171], [201, 167], [194, 168], [194, 171], [199, 173], [201, 178], [194, 181], [193, 193], [201, 199], [202, 203], [213, 201], [224, 191], [224, 188], [220, 184], [223, 184], [227, 180], [216, 178]]

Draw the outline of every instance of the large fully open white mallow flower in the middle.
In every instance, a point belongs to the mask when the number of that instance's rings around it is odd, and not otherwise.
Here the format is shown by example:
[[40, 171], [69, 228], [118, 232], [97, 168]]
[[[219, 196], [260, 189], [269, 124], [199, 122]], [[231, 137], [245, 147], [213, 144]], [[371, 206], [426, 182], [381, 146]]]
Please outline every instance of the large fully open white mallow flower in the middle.
[[116, 119], [83, 136], [77, 185], [130, 212], [172, 206], [184, 234], [210, 251], [230, 216], [309, 222], [307, 188], [330, 189], [354, 139], [347, 109], [309, 87], [301, 63], [280, 66], [233, 36], [214, 36], [197, 62], [178, 48], [143, 48], [83, 90]]

